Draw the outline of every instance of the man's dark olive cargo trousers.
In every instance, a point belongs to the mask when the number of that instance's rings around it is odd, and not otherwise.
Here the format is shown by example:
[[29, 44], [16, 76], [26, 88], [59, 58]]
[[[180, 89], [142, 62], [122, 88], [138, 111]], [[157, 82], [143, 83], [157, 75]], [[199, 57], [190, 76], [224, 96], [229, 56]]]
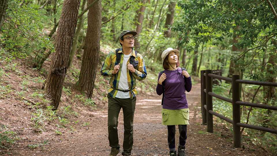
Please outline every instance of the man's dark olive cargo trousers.
[[124, 120], [124, 140], [123, 152], [124, 154], [131, 154], [133, 147], [133, 121], [136, 107], [136, 96], [133, 99], [119, 99], [113, 98], [108, 94], [108, 138], [110, 146], [113, 148], [119, 147], [118, 142], [118, 115], [120, 109], [123, 110]]

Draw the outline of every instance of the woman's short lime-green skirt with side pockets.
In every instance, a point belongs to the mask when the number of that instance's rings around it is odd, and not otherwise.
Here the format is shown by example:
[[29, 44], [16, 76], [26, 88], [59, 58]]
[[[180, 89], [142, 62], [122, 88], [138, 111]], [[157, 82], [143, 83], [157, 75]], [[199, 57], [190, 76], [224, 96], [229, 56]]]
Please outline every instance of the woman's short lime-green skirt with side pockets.
[[189, 125], [190, 109], [162, 109], [162, 125]]

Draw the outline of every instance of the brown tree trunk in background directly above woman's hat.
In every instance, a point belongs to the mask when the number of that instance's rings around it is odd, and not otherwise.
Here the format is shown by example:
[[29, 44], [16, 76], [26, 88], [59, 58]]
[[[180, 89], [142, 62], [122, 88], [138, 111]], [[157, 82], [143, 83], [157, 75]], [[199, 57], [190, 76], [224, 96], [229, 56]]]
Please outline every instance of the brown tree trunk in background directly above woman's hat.
[[164, 31], [165, 37], [171, 36], [171, 28], [169, 28], [169, 27], [171, 27], [171, 25], [173, 24], [175, 6], [176, 6], [175, 1], [171, 1], [168, 5], [168, 12], [166, 14], [166, 21], [165, 21], [165, 25], [164, 25], [164, 28], [166, 28], [166, 30]]

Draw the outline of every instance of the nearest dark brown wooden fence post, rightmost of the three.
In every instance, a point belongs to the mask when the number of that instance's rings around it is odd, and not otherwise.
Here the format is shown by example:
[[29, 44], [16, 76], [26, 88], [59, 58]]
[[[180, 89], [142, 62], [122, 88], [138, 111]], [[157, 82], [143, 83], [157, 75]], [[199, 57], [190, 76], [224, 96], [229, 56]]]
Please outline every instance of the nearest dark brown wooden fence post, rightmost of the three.
[[237, 123], [240, 122], [240, 105], [236, 104], [239, 99], [239, 83], [236, 80], [239, 75], [232, 76], [232, 103], [233, 103], [233, 146], [240, 147], [240, 127]]

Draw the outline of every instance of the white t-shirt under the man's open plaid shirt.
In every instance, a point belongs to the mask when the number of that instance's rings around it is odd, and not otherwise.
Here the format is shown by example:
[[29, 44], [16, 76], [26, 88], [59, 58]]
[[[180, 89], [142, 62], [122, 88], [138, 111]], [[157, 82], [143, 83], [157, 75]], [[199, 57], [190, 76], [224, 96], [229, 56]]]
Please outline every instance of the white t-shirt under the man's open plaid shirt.
[[[122, 63], [120, 79], [118, 83], [118, 89], [120, 90], [129, 90], [128, 79], [127, 79], [127, 62], [131, 55], [132, 55], [132, 52], [129, 55], [123, 55], [123, 63]], [[130, 94], [129, 92], [121, 92], [118, 90], [115, 97], [120, 99], [127, 99], [127, 98], [130, 98]]]

